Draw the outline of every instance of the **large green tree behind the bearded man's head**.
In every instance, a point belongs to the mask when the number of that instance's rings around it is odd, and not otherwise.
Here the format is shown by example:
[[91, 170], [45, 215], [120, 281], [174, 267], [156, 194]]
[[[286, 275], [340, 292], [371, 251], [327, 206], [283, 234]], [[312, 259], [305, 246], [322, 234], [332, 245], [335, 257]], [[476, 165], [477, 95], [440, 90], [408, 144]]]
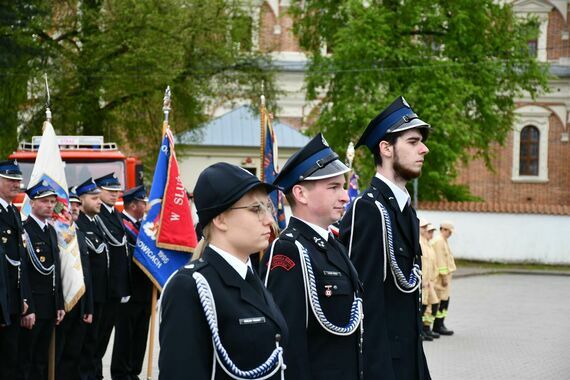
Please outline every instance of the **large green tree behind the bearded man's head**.
[[[470, 199], [453, 183], [457, 164], [490, 166], [514, 99], [547, 87], [548, 67], [527, 45], [537, 20], [494, 0], [295, 0], [292, 13], [311, 56], [308, 96], [323, 97], [314, 128], [339, 152], [399, 95], [432, 125], [422, 199]], [[374, 170], [364, 150], [356, 167], [365, 178]]]

